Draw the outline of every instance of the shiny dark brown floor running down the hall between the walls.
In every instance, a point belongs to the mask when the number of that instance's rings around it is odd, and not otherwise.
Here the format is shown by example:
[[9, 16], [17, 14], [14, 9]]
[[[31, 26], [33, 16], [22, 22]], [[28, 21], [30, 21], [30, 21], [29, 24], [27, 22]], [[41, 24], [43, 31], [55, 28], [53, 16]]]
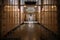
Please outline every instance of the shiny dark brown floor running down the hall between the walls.
[[44, 28], [43, 25], [33, 22], [23, 23], [5, 35], [5, 38], [16, 40], [57, 40], [55, 34]]

